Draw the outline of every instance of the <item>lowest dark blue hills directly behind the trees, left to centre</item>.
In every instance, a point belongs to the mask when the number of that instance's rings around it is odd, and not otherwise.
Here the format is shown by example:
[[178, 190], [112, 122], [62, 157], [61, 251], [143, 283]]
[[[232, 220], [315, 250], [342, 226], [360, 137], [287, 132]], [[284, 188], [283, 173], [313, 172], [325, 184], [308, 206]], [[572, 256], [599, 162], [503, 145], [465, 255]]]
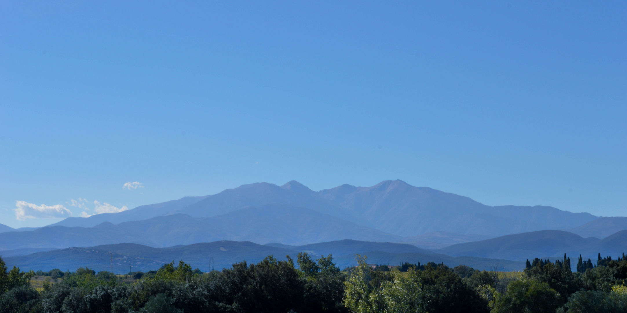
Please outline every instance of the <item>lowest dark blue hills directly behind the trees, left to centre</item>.
[[[514, 270], [524, 267], [523, 262], [477, 257], [449, 257], [432, 252], [421, 253], [422, 250], [419, 248], [396, 243], [342, 240], [320, 243], [314, 248], [317, 252], [324, 252], [324, 254], [328, 254], [327, 252], [346, 253], [345, 255], [334, 255], [335, 263], [340, 268], [354, 265], [356, 263], [355, 253], [366, 255], [368, 262], [389, 265], [397, 265], [407, 261], [411, 263], [443, 262], [450, 267], [465, 264], [473, 268], [487, 270], [494, 268]], [[364, 251], [370, 248], [394, 252]], [[88, 248], [65, 248], [19, 257], [7, 257], [4, 260], [7, 265], [17, 265], [22, 270], [51, 270], [53, 268], [75, 270], [78, 267], [90, 267], [97, 272], [112, 268], [115, 273], [127, 273], [129, 270], [146, 272], [147, 270], [156, 270], [167, 262], [184, 260], [193, 268], [207, 271], [212, 267], [216, 270], [228, 268], [231, 267], [231, 264], [243, 260], [248, 263], [256, 263], [268, 255], [273, 255], [279, 260], [285, 260], [285, 256], [290, 255], [295, 260], [297, 250], [272, 247], [271, 245], [257, 245], [250, 241], [214, 241], [167, 248], [120, 243]], [[110, 262], [111, 257], [113, 257], [113, 266]]]

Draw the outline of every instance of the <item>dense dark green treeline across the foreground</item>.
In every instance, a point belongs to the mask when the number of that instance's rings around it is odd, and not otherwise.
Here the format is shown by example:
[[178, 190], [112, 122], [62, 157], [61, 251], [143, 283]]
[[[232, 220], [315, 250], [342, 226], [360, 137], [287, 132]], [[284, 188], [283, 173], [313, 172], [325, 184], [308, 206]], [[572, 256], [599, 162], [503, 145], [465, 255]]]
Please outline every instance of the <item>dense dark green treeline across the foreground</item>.
[[[627, 312], [627, 261], [535, 259], [519, 273], [465, 265], [359, 265], [340, 271], [332, 257], [296, 262], [267, 257], [221, 272], [172, 262], [157, 271], [114, 275], [10, 271], [0, 258], [0, 311], [13, 312]], [[295, 264], [296, 263], [296, 264]], [[585, 267], [585, 268], [584, 268]], [[34, 275], [48, 277], [31, 287]], [[125, 280], [127, 279], [127, 280]], [[128, 279], [135, 279], [129, 282]]]

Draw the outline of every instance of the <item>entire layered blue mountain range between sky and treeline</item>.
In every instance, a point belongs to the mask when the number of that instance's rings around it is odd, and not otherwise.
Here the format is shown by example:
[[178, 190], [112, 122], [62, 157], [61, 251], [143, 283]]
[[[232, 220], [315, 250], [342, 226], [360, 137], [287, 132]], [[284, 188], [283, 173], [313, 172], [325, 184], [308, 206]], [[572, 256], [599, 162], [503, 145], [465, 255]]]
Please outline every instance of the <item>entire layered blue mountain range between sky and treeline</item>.
[[[559, 257], [564, 252], [591, 258], [599, 252], [620, 255], [627, 248], [627, 233], [621, 233], [627, 230], [624, 217], [598, 218], [549, 206], [487, 206], [399, 180], [371, 187], [344, 184], [322, 191], [296, 181], [283, 186], [255, 183], [120, 213], [66, 218], [41, 228], [3, 226], [0, 254], [15, 260], [33, 252], [60, 255], [58, 250], [46, 250], [70, 247], [135, 243], [166, 249], [217, 241], [251, 241], [314, 255], [328, 252], [345, 265], [354, 262], [356, 251], [376, 255], [381, 262], [403, 258], [413, 262], [431, 255], [440, 262], [455, 263], [463, 257], [464, 262], [484, 264], [484, 259], [521, 262]], [[347, 244], [342, 240], [371, 242], [370, 250], [360, 250], [356, 243], [342, 250]], [[373, 241], [384, 244], [374, 248]], [[322, 248], [322, 243], [335, 250]], [[73, 249], [71, 253], [80, 251]], [[119, 254], [129, 258], [128, 253]], [[154, 260], [150, 255], [140, 258]], [[26, 258], [19, 260], [26, 262]]]

